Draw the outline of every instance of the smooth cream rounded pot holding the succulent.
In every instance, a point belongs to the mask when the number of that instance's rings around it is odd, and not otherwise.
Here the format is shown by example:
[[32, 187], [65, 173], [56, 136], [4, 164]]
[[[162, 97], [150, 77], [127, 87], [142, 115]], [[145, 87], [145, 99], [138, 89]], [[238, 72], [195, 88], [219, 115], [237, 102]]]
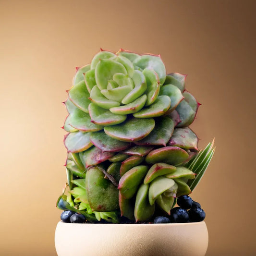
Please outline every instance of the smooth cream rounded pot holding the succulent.
[[55, 231], [58, 256], [204, 256], [204, 221], [170, 224], [74, 224]]

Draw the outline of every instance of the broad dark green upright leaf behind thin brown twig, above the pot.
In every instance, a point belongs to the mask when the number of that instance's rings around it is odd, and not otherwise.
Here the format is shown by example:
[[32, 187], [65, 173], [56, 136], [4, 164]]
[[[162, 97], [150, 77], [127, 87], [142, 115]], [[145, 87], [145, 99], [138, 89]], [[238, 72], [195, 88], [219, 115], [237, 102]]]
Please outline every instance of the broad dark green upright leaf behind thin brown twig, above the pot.
[[85, 183], [88, 201], [94, 211], [118, 209], [118, 189], [109, 180], [104, 179], [104, 174], [97, 166], [87, 171]]

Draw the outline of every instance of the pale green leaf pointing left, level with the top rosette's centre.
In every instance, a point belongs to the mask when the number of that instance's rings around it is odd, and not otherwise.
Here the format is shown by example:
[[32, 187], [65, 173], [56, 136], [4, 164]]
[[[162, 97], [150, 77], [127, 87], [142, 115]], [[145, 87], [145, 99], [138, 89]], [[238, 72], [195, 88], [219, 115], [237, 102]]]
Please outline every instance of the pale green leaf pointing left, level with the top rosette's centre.
[[79, 84], [73, 86], [69, 91], [69, 98], [73, 104], [85, 113], [88, 113], [88, 106], [91, 103], [89, 100], [90, 94], [87, 91], [85, 81], [81, 81]]

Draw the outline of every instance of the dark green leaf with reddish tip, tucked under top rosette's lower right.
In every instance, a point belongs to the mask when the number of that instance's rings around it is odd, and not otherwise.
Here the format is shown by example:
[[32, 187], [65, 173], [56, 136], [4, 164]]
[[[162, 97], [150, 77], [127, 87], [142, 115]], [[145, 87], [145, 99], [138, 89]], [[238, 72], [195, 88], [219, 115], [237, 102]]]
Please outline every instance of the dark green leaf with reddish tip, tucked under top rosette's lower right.
[[166, 146], [174, 129], [174, 122], [169, 117], [155, 119], [156, 125], [153, 131], [143, 140], [136, 142], [137, 145], [159, 145]]

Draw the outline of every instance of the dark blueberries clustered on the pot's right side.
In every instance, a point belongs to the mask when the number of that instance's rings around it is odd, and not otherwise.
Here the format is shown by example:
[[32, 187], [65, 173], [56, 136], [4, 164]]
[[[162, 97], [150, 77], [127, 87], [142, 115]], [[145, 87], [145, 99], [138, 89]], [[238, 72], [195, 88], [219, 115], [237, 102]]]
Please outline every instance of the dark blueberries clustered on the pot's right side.
[[180, 207], [174, 207], [171, 209], [170, 218], [158, 216], [154, 219], [154, 223], [199, 222], [204, 220], [206, 217], [201, 205], [193, 201], [188, 195], [179, 196], [177, 204]]

